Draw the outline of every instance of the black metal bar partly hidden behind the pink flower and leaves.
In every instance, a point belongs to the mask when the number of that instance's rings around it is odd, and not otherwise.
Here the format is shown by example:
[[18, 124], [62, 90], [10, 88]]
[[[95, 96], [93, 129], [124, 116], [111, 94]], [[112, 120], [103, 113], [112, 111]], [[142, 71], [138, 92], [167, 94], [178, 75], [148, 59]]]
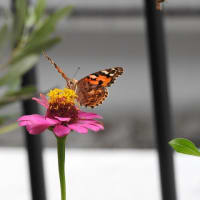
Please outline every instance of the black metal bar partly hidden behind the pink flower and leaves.
[[[17, 0], [11, 1], [11, 9], [13, 12], [15, 12], [16, 1]], [[22, 86], [36, 85], [36, 82], [36, 68], [34, 67], [23, 76]], [[23, 101], [22, 106], [23, 114], [25, 115], [39, 112], [37, 104], [32, 100]], [[42, 138], [40, 135], [30, 135], [25, 130], [25, 141], [29, 161], [32, 200], [46, 200], [42, 158]]]

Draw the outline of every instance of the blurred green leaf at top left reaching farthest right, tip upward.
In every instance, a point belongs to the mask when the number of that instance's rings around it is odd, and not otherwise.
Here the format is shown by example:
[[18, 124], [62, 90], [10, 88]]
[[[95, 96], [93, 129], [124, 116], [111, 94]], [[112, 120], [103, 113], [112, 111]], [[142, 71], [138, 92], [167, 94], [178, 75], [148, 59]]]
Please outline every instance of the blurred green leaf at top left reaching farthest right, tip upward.
[[72, 7], [67, 6], [50, 15], [38, 29], [33, 31], [27, 45], [32, 46], [46, 40], [46, 38], [48, 38], [48, 36], [55, 30], [56, 23], [64, 16], [69, 15], [71, 11]]

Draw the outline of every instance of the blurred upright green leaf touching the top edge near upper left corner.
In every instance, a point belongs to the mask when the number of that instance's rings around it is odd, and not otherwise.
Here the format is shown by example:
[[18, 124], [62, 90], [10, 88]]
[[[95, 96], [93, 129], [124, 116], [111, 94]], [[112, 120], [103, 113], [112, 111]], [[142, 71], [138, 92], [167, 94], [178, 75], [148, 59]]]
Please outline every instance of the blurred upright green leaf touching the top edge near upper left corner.
[[27, 16], [27, 1], [16, 0], [15, 1], [16, 14], [14, 17], [14, 30], [13, 30], [13, 45], [21, 40], [23, 35], [24, 24]]

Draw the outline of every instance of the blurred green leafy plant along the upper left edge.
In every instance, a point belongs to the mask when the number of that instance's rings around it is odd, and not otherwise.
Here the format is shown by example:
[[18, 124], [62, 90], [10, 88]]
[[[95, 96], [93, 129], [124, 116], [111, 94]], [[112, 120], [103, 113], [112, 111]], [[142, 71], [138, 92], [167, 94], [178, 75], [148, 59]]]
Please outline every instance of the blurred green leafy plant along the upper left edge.
[[[0, 28], [0, 111], [16, 101], [31, 98], [34, 86], [21, 88], [21, 78], [39, 60], [43, 50], [60, 42], [53, 36], [57, 23], [68, 16], [72, 7], [67, 6], [47, 16], [46, 0], [27, 5], [27, 0], [15, 1], [15, 11], [5, 11], [5, 22]], [[9, 51], [9, 55], [3, 55]], [[17, 128], [16, 114], [0, 116], [0, 134]], [[10, 121], [8, 123], [8, 121]]]

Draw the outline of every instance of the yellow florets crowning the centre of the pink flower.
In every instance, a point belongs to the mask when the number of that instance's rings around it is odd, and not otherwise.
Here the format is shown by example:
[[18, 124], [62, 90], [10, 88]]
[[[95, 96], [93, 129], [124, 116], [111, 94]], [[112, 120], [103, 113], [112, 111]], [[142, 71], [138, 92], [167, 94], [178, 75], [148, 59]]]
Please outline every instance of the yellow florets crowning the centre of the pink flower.
[[[53, 90], [50, 90], [50, 92], [47, 94], [49, 96], [49, 104], [69, 104], [75, 103], [75, 99], [77, 98], [77, 95], [74, 90], [64, 88], [63, 90], [55, 88]], [[58, 109], [58, 108], [57, 108]]]

